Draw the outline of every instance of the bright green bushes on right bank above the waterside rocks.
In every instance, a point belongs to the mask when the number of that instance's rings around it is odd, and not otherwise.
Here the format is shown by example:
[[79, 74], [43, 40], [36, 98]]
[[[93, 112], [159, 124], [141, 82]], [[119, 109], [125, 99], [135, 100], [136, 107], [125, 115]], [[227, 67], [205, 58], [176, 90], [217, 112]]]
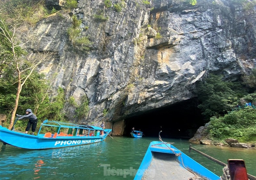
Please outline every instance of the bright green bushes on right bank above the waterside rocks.
[[237, 139], [239, 142], [256, 142], [256, 110], [248, 106], [232, 111], [223, 117], [212, 117], [208, 126], [212, 139]]

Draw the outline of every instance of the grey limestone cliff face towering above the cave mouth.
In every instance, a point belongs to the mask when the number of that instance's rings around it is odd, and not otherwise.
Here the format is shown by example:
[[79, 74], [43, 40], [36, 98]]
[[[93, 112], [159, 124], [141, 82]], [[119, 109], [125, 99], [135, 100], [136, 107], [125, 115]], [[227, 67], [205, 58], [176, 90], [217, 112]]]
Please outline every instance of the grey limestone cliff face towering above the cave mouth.
[[[229, 0], [197, 0], [194, 6], [180, 0], [113, 0], [109, 8], [104, 0], [77, 2], [69, 14], [82, 20], [80, 37], [92, 42], [88, 53], [70, 43], [67, 29], [72, 20], [67, 12], [41, 20], [20, 38], [31, 39], [24, 48], [58, 53], [39, 71], [49, 78], [57, 73], [55, 87], [65, 89], [67, 100], [73, 96], [79, 104], [87, 95], [90, 112], [84, 123], [122, 121], [188, 100], [209, 72], [237, 80], [255, 67], [255, 7], [244, 10]], [[120, 12], [114, 8], [118, 3]], [[100, 14], [107, 20], [95, 18]], [[74, 119], [68, 102], [65, 112]]]

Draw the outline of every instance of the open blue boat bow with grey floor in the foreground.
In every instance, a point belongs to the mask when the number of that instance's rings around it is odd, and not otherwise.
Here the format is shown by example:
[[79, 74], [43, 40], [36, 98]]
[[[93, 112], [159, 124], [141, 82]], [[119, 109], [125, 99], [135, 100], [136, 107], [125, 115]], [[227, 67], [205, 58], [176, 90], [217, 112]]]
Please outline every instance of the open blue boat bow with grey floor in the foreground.
[[[177, 154], [179, 154], [179, 156], [176, 156]], [[175, 163], [176, 165], [174, 165]], [[161, 165], [163, 167], [159, 167]], [[195, 176], [184, 167], [196, 173], [196, 176], [198, 177], [209, 180], [220, 179], [219, 176], [214, 174], [209, 169], [206, 169], [204, 166], [194, 161], [171, 144], [163, 144], [160, 141], [152, 141], [140, 164], [134, 180], [140, 180], [142, 177], [143, 179], [160, 178], [180, 180], [189, 179], [190, 177]]]

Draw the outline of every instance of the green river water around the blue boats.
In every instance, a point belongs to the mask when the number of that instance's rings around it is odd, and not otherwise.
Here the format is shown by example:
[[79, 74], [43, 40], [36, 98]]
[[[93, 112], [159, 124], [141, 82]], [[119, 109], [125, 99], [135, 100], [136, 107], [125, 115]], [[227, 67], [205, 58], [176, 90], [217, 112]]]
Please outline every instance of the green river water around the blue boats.
[[[0, 143], [0, 179], [133, 179], [151, 141], [158, 138], [107, 137], [101, 143], [48, 150], [27, 150]], [[190, 142], [166, 139], [218, 176], [222, 166], [196, 153], [188, 152]], [[227, 163], [244, 159], [247, 172], [256, 176], [255, 149], [192, 144], [192, 147]], [[127, 173], [123, 173], [127, 172]]]

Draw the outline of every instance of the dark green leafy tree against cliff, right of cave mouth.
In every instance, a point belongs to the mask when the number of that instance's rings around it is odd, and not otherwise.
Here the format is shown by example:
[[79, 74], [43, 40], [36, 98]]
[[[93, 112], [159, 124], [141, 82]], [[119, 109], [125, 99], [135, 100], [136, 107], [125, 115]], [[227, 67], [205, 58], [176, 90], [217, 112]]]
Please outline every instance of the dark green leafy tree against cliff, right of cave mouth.
[[232, 90], [233, 87], [233, 83], [224, 82], [221, 77], [213, 74], [210, 74], [204, 82], [199, 83], [196, 91], [202, 103], [198, 105], [198, 108], [202, 110], [206, 119], [212, 116], [223, 116], [227, 110], [235, 107], [239, 97]]

